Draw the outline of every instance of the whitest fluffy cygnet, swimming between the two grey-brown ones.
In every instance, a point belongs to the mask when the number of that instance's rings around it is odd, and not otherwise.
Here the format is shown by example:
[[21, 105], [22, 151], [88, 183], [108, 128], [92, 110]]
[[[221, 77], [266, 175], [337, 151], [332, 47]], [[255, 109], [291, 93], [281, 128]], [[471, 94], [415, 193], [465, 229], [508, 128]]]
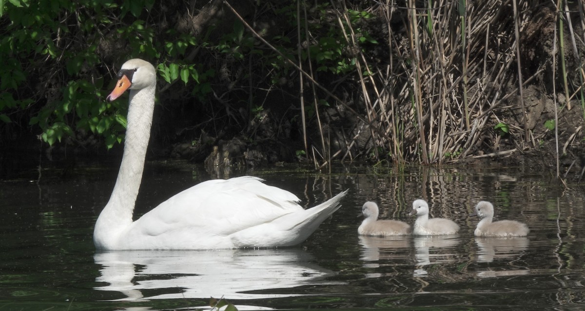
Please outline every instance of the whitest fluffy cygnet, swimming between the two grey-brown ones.
[[459, 225], [450, 219], [431, 218], [429, 219], [429, 205], [425, 200], [418, 199], [412, 202], [410, 215], [417, 215], [417, 220], [412, 227], [412, 234], [415, 236], [440, 236], [455, 234], [459, 231]]

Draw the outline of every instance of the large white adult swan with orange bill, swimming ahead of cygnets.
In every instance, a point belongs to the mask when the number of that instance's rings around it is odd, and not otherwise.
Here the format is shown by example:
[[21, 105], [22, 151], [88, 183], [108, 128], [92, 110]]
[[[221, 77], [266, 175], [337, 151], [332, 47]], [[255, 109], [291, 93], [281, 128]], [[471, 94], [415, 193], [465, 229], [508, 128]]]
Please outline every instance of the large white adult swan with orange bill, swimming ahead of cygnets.
[[126, 61], [108, 101], [130, 89], [122, 163], [112, 195], [99, 214], [94, 244], [101, 250], [201, 250], [299, 244], [339, 208], [343, 191], [303, 209], [294, 194], [256, 177], [201, 182], [144, 214], [132, 214], [140, 188], [154, 111], [156, 71], [140, 59]]

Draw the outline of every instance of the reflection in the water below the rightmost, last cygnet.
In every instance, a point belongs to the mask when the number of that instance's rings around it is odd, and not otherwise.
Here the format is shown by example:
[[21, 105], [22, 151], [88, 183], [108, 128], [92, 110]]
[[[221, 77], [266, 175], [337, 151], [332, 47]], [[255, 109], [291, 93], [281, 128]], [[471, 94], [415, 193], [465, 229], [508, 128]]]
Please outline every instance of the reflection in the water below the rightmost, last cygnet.
[[[494, 260], [515, 260], [528, 250], [528, 238], [526, 237], [476, 237], [477, 262], [492, 262]], [[509, 277], [514, 275], [529, 274], [527, 268], [510, 264], [512, 269], [494, 271], [486, 270], [477, 272], [480, 278]]]

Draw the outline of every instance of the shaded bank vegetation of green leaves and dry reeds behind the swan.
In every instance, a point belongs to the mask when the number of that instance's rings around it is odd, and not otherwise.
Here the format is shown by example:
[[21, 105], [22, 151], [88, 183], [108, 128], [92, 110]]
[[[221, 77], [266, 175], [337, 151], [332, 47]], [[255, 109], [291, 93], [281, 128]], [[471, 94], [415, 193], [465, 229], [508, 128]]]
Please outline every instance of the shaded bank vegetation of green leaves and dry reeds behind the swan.
[[104, 98], [140, 57], [158, 64], [158, 155], [585, 172], [582, 1], [0, 6], [0, 149], [120, 148], [126, 101]]

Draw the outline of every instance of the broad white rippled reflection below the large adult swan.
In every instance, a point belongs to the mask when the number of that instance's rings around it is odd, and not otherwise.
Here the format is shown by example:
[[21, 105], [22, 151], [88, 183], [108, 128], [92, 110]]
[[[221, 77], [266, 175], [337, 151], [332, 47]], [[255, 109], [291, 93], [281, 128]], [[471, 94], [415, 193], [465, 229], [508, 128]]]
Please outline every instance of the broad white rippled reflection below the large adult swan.
[[312, 264], [300, 249], [107, 251], [94, 260], [101, 266], [95, 281], [104, 283], [95, 289], [122, 293], [116, 301], [302, 296], [270, 289], [333, 284], [325, 279], [333, 272]]

